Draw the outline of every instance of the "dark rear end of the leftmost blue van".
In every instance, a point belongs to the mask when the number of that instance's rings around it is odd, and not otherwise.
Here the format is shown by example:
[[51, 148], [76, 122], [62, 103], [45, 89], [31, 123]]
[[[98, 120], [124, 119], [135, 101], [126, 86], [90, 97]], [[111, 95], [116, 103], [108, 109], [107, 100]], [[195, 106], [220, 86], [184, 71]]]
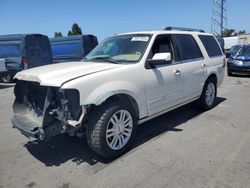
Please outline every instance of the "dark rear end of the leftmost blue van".
[[27, 67], [33, 68], [52, 63], [50, 42], [47, 36], [35, 34], [25, 37]]

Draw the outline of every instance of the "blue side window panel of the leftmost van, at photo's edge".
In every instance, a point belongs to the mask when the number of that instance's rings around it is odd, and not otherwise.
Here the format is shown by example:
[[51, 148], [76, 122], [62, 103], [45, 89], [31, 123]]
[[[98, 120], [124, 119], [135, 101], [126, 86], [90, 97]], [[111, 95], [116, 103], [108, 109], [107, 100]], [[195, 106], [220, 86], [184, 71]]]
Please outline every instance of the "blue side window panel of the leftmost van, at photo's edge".
[[0, 44], [0, 58], [19, 57], [20, 44]]

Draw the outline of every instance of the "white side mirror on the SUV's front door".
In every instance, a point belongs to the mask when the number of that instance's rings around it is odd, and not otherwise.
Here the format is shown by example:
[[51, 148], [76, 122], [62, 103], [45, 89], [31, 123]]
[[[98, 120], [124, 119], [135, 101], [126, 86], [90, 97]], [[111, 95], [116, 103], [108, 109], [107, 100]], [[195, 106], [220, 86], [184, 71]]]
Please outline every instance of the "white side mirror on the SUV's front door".
[[170, 64], [172, 61], [172, 55], [170, 52], [166, 53], [156, 53], [152, 59], [148, 59], [147, 63], [154, 68], [157, 65]]

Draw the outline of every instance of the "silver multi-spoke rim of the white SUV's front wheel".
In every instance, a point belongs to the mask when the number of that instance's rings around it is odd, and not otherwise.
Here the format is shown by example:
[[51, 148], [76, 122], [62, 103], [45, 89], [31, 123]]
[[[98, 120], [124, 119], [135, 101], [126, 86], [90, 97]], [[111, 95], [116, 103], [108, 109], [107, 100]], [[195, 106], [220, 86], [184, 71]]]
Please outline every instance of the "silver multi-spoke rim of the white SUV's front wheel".
[[133, 129], [133, 119], [127, 110], [119, 110], [111, 116], [107, 129], [106, 141], [113, 150], [123, 148], [129, 141]]

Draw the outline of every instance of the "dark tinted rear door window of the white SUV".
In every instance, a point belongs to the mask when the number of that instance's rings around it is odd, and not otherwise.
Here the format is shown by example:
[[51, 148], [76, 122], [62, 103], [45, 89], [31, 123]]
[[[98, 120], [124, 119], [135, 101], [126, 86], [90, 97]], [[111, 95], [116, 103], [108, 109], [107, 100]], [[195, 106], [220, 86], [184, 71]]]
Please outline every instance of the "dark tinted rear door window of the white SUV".
[[186, 61], [203, 58], [201, 50], [192, 35], [172, 35], [173, 46], [176, 49], [176, 61]]

